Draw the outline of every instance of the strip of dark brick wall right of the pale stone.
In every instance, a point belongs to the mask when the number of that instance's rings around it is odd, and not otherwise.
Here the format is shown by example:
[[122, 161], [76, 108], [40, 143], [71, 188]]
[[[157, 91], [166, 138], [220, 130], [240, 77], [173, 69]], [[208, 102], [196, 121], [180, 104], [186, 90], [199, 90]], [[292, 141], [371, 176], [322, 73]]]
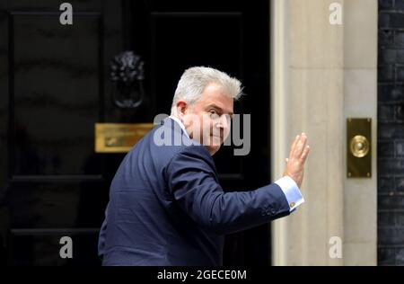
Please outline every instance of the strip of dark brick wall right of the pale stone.
[[404, 265], [404, 1], [379, 0], [378, 264]]

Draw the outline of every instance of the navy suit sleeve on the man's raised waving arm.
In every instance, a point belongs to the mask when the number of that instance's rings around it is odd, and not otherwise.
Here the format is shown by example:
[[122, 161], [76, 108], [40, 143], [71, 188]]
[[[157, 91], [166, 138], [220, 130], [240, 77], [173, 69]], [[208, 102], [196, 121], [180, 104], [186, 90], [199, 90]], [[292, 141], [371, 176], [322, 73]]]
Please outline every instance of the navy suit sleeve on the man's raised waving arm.
[[290, 214], [285, 193], [276, 183], [255, 191], [224, 192], [211, 157], [201, 148], [186, 147], [166, 169], [173, 200], [200, 226], [224, 235]]

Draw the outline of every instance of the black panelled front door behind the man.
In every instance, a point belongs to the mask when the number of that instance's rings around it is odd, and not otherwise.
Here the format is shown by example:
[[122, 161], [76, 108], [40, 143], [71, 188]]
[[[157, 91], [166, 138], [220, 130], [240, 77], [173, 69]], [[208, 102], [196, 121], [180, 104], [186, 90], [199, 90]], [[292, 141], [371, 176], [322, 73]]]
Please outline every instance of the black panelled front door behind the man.
[[[76, 0], [73, 24], [54, 0], [0, 3], [0, 258], [11, 265], [99, 264], [98, 230], [125, 154], [94, 151], [97, 122], [153, 122], [170, 113], [181, 73], [209, 66], [242, 80], [251, 114], [246, 156], [215, 155], [224, 190], [269, 182], [266, 1]], [[143, 100], [116, 103], [110, 61], [144, 62]], [[115, 100], [115, 102], [114, 102]], [[73, 258], [61, 258], [63, 236]], [[268, 226], [226, 236], [224, 264], [267, 265]]]

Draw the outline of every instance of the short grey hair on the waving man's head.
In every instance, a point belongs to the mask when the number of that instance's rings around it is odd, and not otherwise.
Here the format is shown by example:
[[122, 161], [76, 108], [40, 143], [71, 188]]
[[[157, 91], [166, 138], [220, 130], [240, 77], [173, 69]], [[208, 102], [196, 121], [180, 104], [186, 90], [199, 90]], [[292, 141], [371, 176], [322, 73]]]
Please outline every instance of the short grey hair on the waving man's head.
[[180, 77], [172, 99], [171, 114], [176, 110], [178, 101], [183, 100], [189, 104], [197, 102], [206, 86], [213, 83], [222, 86], [224, 93], [234, 101], [242, 96], [242, 83], [236, 78], [211, 67], [190, 67]]

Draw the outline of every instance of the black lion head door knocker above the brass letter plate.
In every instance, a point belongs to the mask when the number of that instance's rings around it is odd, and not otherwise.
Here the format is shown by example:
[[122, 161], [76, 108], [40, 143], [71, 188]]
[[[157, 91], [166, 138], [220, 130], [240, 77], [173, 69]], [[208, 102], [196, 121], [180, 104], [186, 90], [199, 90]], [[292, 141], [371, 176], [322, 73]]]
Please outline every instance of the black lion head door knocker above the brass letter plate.
[[124, 51], [110, 61], [112, 102], [122, 109], [136, 109], [145, 98], [144, 62], [133, 51]]

